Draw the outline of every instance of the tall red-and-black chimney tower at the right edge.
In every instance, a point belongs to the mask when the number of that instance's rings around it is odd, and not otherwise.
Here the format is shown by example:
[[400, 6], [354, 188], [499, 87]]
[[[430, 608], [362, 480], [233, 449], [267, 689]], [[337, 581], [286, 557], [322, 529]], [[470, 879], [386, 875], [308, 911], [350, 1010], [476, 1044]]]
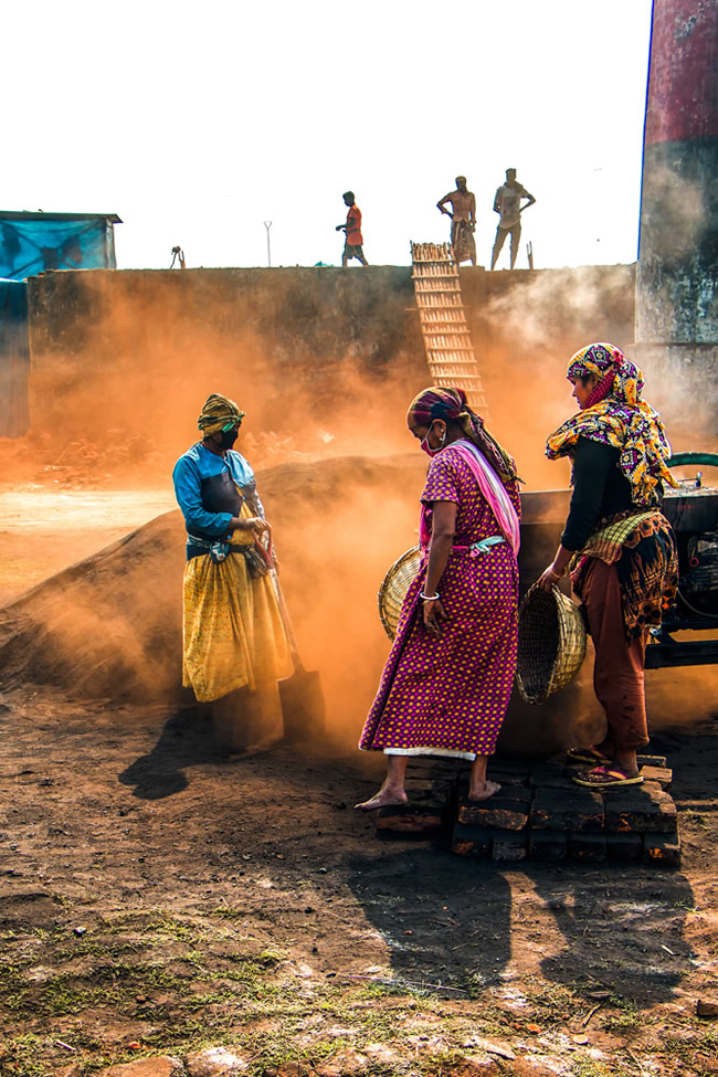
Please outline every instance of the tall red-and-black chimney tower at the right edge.
[[654, 0], [636, 357], [658, 399], [718, 437], [718, 8]]

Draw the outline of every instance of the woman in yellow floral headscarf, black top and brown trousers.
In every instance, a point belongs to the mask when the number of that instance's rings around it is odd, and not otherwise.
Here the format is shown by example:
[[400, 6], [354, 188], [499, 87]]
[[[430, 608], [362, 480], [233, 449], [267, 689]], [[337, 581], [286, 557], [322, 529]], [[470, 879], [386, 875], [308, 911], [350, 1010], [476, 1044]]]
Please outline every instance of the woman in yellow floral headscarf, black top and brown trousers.
[[671, 445], [656, 411], [641, 400], [643, 376], [619, 348], [592, 344], [567, 373], [580, 411], [548, 440], [546, 455], [571, 458], [573, 495], [561, 545], [541, 576], [549, 591], [571, 582], [593, 637], [593, 685], [608, 731], [569, 756], [593, 768], [574, 780], [594, 789], [642, 782], [636, 751], [648, 743], [644, 656], [677, 587], [676, 547], [661, 514]]

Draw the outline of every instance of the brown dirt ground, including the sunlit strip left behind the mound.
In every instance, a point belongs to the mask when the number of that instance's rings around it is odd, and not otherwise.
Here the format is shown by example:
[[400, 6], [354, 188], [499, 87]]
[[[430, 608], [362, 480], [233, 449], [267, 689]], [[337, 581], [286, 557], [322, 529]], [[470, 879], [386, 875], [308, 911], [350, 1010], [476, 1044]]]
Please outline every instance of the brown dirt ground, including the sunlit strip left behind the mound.
[[[2, 601], [170, 507], [31, 493], [13, 522], [0, 492]], [[679, 872], [380, 842], [347, 739], [226, 757], [191, 708], [32, 685], [0, 729], [2, 1074], [220, 1045], [267, 1077], [718, 1074], [718, 715], [653, 742]]]

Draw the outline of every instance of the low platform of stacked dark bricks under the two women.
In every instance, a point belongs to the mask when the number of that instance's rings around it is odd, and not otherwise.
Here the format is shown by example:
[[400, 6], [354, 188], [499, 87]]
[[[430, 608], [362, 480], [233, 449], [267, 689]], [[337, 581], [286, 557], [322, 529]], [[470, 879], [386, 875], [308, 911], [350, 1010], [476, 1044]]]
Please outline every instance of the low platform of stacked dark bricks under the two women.
[[487, 801], [466, 796], [465, 764], [421, 757], [421, 777], [406, 781], [409, 804], [383, 807], [382, 838], [442, 837], [458, 856], [494, 860], [604, 860], [680, 866], [672, 772], [659, 756], [638, 757], [642, 785], [599, 792], [573, 782], [585, 764], [497, 759], [490, 778], [501, 790]]

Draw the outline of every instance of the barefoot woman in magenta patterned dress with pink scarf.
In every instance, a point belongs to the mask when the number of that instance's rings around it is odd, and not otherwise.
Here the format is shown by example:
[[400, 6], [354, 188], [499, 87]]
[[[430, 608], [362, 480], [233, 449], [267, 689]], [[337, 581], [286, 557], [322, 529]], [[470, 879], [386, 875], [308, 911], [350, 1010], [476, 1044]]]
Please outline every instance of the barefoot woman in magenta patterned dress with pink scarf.
[[469, 800], [496, 793], [486, 764], [516, 669], [516, 465], [462, 389], [424, 390], [406, 423], [432, 457], [421, 496], [424, 559], [359, 741], [388, 757], [383, 785], [357, 804], [363, 811], [406, 802], [410, 756], [469, 759]]

